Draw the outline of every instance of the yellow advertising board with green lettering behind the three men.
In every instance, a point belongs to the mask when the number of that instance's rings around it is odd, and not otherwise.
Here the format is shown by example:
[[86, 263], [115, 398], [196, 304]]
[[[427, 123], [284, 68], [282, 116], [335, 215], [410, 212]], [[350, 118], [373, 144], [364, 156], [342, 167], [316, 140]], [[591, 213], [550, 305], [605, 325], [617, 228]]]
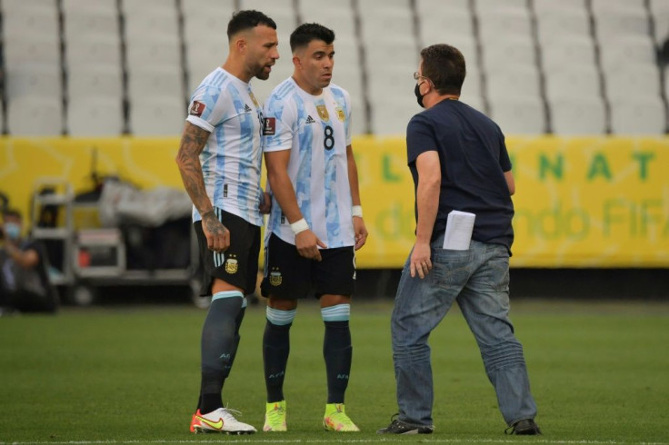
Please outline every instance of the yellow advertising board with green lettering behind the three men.
[[[0, 140], [0, 191], [28, 214], [35, 181], [92, 188], [92, 165], [142, 188], [182, 187], [178, 138]], [[669, 138], [514, 137], [515, 267], [669, 267]], [[358, 137], [370, 232], [361, 268], [400, 267], [414, 242], [414, 184], [404, 139]], [[95, 153], [95, 154], [94, 154]]]

